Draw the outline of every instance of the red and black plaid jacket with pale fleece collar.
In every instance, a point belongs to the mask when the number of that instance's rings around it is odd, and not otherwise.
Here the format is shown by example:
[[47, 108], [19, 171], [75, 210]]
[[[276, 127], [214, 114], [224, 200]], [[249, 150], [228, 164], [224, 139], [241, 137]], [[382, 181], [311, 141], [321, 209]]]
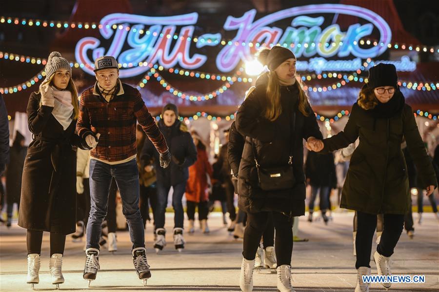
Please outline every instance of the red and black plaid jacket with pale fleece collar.
[[[99, 143], [91, 156], [110, 162], [121, 161], [137, 154], [136, 120], [159, 153], [168, 150], [166, 140], [148, 112], [139, 90], [119, 82], [122, 90], [107, 102], [97, 84], [80, 97], [80, 112], [76, 129], [85, 139], [100, 133]], [[141, 149], [140, 149], [141, 150]]]

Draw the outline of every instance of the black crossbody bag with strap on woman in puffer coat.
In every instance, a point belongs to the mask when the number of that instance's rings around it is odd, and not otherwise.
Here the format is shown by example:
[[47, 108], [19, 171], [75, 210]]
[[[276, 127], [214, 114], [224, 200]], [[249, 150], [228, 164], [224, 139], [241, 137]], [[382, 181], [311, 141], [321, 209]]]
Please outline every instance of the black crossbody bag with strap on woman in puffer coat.
[[[293, 133], [296, 127], [296, 113], [293, 112]], [[294, 135], [294, 134], [293, 134]], [[256, 147], [252, 141], [253, 156], [255, 158], [256, 169], [258, 170], [259, 187], [264, 191], [278, 191], [290, 189], [294, 186], [296, 179], [293, 172], [293, 146], [294, 139], [290, 139], [289, 159], [284, 165], [274, 167], [261, 167], [256, 157]]]

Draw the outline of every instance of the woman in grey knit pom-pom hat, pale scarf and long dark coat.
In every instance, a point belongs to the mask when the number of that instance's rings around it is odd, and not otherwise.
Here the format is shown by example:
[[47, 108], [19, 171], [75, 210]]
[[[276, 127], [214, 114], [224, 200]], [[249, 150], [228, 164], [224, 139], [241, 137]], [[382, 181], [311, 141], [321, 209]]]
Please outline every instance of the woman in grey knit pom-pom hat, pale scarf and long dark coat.
[[78, 93], [69, 62], [58, 52], [47, 59], [46, 78], [27, 104], [33, 140], [27, 149], [21, 181], [18, 225], [27, 229], [27, 283], [40, 281], [43, 231], [50, 232], [52, 284], [64, 283], [61, 265], [65, 236], [76, 227], [76, 151], [89, 149], [75, 134]]

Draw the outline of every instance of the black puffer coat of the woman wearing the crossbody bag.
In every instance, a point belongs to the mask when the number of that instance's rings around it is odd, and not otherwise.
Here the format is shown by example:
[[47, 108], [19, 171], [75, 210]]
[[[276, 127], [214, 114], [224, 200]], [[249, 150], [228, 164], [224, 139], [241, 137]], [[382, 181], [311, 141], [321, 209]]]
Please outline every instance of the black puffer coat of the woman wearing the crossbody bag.
[[[263, 117], [266, 107], [267, 76], [261, 76], [256, 89], [239, 107], [236, 128], [245, 138], [239, 165], [239, 209], [250, 213], [260, 211], [287, 212], [293, 216], [305, 212], [305, 175], [303, 173], [303, 139], [311, 136], [322, 138], [314, 111], [307, 107], [305, 117], [298, 108], [297, 85], [280, 87], [282, 113], [275, 121]], [[295, 127], [293, 119], [295, 113]], [[282, 191], [263, 191], [259, 187], [252, 141], [261, 167], [281, 166], [288, 163], [292, 146], [293, 170], [296, 184]], [[292, 143], [292, 144], [291, 144]]]

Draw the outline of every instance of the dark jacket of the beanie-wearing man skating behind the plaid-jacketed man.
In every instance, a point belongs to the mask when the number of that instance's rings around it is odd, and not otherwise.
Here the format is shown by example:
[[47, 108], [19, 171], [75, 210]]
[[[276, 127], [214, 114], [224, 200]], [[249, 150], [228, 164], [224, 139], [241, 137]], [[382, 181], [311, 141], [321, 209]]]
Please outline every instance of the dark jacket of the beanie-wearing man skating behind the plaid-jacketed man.
[[169, 152], [172, 155], [171, 163], [165, 169], [160, 167], [160, 155], [149, 139], [145, 139], [141, 160], [142, 165], [147, 164], [154, 157], [157, 182], [174, 186], [189, 178], [188, 167], [197, 160], [197, 149], [187, 127], [176, 120], [174, 125], [167, 127], [163, 120], [159, 121], [159, 128], [166, 139]]

